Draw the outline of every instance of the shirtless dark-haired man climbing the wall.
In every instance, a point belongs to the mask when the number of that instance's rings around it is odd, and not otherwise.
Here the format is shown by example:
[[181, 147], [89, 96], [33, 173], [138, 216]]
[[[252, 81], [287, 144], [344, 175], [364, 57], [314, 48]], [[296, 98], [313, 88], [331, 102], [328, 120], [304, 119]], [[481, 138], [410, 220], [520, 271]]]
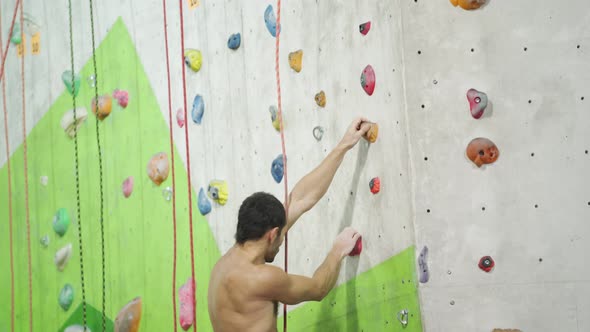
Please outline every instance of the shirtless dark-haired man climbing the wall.
[[285, 233], [326, 193], [347, 151], [371, 128], [367, 119], [355, 119], [334, 150], [289, 195], [285, 208], [273, 195], [255, 193], [238, 213], [236, 244], [211, 272], [209, 317], [216, 332], [277, 330], [278, 302], [321, 301], [334, 287], [340, 263], [354, 248], [360, 234], [350, 227], [336, 237], [326, 259], [313, 277], [287, 274], [267, 265], [274, 261]]

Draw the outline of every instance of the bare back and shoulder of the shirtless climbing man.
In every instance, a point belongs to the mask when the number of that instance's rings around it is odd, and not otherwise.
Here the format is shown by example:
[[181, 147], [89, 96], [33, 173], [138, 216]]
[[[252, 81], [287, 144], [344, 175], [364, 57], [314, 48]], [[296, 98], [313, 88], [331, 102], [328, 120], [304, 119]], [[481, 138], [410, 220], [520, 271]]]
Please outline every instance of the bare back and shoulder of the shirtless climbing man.
[[276, 331], [278, 302], [257, 296], [257, 266], [236, 247], [215, 264], [209, 284], [209, 315], [215, 331]]

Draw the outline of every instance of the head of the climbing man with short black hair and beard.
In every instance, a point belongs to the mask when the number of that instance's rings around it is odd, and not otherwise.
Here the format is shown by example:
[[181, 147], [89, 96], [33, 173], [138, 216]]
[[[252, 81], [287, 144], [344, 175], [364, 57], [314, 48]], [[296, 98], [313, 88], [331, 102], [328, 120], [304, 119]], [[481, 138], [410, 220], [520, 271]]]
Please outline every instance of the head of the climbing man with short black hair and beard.
[[286, 222], [285, 208], [276, 197], [255, 193], [240, 206], [236, 242], [263, 241], [268, 248], [264, 259], [270, 263], [283, 243], [282, 230]]

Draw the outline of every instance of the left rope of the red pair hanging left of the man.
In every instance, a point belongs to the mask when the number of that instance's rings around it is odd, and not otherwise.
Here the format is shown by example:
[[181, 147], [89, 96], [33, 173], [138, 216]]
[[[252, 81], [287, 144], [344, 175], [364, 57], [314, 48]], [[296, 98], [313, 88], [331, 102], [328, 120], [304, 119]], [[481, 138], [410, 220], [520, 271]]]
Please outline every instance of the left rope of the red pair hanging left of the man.
[[172, 161], [172, 229], [174, 233], [174, 257], [172, 263], [172, 322], [174, 332], [177, 331], [176, 324], [176, 177], [174, 176], [174, 139], [172, 136], [172, 100], [170, 88], [170, 56], [168, 55], [168, 19], [166, 18], [166, 0], [162, 0], [164, 10], [164, 41], [166, 43], [166, 75], [168, 77], [168, 121], [170, 123], [170, 159]]

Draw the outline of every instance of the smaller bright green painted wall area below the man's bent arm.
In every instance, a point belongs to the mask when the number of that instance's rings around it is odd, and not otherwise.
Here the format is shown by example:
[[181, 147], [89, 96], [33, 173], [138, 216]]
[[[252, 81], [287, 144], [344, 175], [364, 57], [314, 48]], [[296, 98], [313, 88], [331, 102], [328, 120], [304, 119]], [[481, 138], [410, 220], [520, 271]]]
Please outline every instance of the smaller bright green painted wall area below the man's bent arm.
[[[422, 331], [415, 248], [411, 246], [355, 279], [333, 289], [322, 302], [310, 302], [288, 313], [289, 331]], [[349, 260], [343, 269], [355, 268]], [[404, 328], [397, 313], [409, 311]], [[282, 321], [278, 323], [282, 330]]]

